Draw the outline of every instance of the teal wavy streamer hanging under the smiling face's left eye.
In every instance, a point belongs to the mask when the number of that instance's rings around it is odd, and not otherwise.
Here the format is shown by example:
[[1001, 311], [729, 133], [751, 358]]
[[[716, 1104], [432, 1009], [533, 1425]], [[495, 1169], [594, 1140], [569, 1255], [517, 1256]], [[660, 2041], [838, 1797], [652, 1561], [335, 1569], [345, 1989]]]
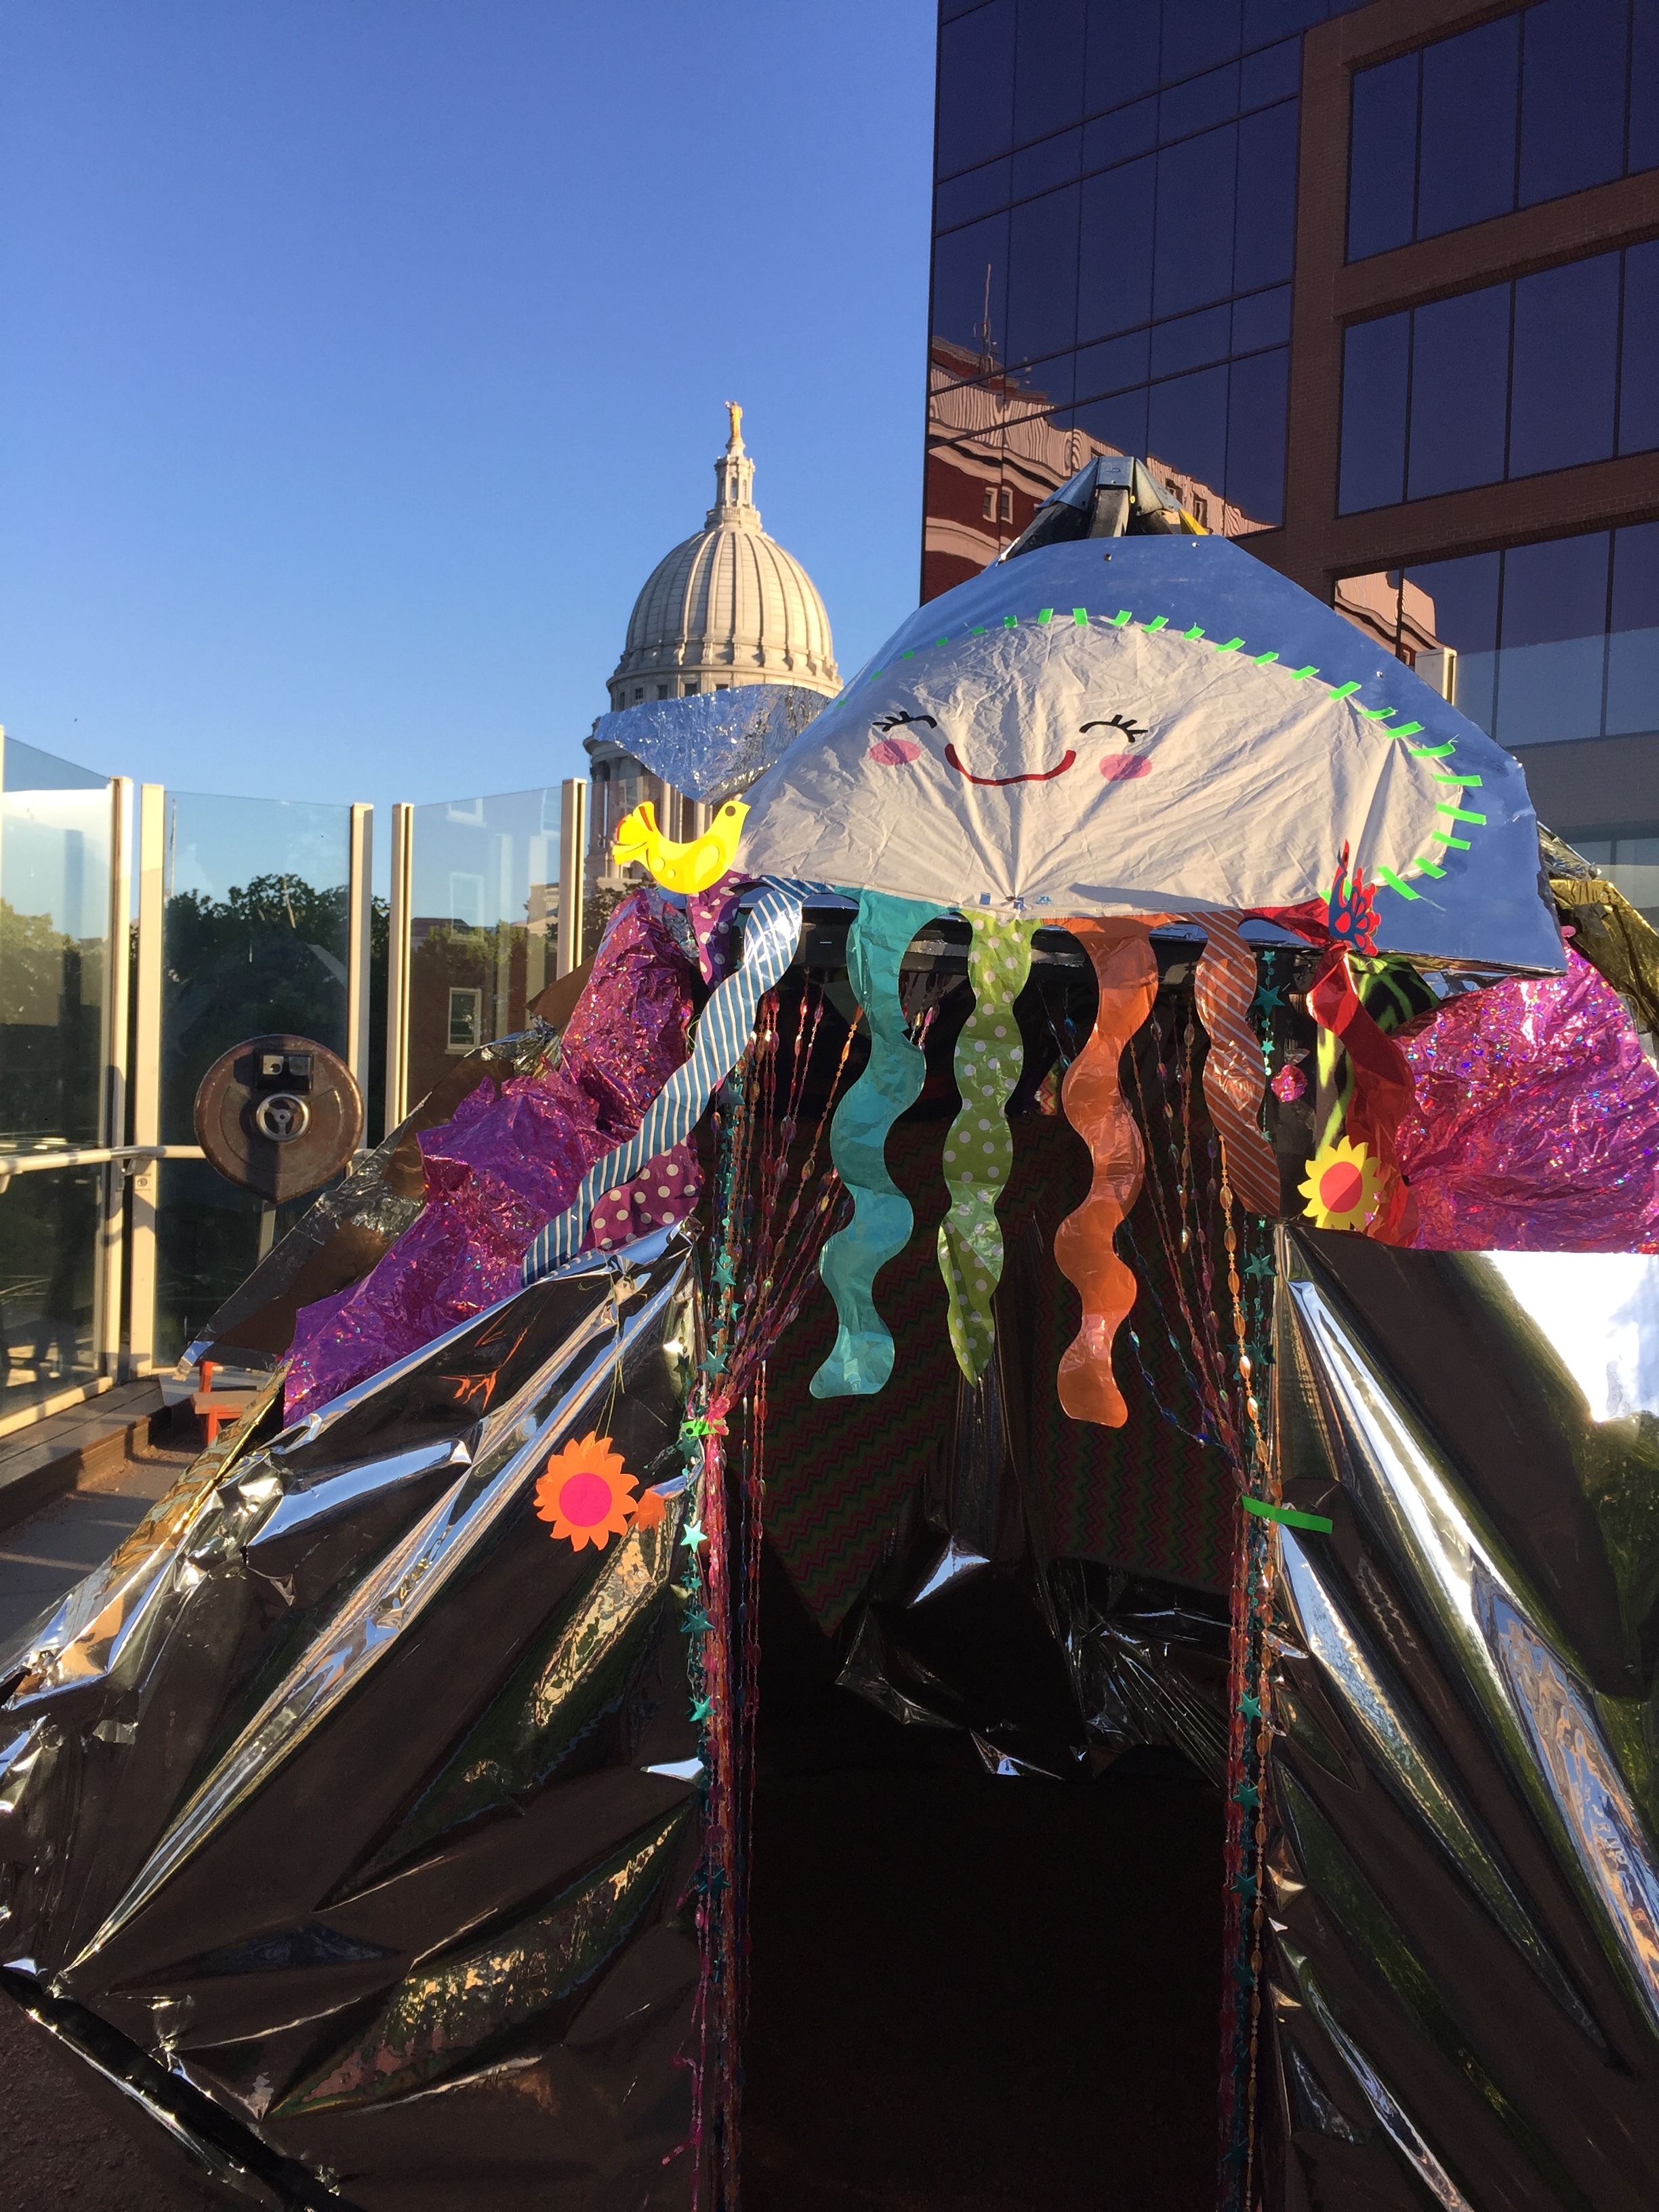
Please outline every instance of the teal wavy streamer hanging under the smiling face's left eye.
[[818, 1254], [841, 1327], [812, 1378], [814, 1398], [869, 1398], [894, 1371], [894, 1338], [876, 1312], [876, 1272], [909, 1243], [911, 1208], [887, 1172], [887, 1133], [916, 1104], [927, 1073], [905, 1035], [898, 964], [938, 907], [887, 891], [860, 891], [847, 931], [847, 980], [869, 1022], [869, 1062], [830, 1124], [830, 1157], [852, 1192], [854, 1217]]

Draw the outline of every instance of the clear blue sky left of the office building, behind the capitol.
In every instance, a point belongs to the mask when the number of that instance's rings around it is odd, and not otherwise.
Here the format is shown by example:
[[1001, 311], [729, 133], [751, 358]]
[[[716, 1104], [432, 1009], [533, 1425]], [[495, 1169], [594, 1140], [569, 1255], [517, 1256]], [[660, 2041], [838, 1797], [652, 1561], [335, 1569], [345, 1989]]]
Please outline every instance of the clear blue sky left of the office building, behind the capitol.
[[376, 812], [575, 774], [726, 398], [849, 672], [918, 591], [933, 20], [9, 0], [9, 734]]

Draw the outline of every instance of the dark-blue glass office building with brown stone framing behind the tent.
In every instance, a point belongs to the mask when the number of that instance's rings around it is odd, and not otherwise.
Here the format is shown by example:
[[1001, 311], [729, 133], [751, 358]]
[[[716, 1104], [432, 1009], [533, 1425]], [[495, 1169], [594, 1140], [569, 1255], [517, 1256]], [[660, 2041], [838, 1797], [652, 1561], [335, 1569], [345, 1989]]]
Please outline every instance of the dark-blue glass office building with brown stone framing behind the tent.
[[1659, 0], [942, 0], [922, 597], [1097, 451], [1659, 911]]

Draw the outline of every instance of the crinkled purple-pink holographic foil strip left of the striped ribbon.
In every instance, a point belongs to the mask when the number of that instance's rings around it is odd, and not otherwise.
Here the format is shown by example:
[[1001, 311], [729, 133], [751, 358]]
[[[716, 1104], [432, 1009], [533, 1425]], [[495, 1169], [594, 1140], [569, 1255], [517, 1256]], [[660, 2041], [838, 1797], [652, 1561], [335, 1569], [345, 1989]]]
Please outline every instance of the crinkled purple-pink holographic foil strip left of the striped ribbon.
[[624, 900], [557, 1064], [500, 1091], [484, 1079], [453, 1121], [427, 1130], [425, 1212], [361, 1283], [301, 1307], [283, 1391], [290, 1420], [518, 1287], [535, 1232], [571, 1203], [595, 1159], [633, 1137], [686, 1060], [692, 980], [661, 894]]

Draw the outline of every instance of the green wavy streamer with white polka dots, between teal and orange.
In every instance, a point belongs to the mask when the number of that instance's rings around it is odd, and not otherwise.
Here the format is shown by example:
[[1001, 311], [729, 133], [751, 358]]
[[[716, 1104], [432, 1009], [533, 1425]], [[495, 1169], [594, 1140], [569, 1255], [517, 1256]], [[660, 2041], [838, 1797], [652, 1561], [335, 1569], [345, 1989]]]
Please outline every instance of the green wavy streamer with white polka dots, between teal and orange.
[[945, 1183], [951, 1210], [938, 1232], [938, 1263], [951, 1301], [951, 1349], [969, 1383], [991, 1365], [995, 1327], [991, 1294], [1002, 1276], [998, 1199], [1013, 1168], [1009, 1099], [1020, 1082], [1024, 1046], [1013, 1002], [1031, 973], [1035, 922], [1002, 922], [969, 914], [973, 945], [969, 982], [973, 1013], [956, 1040], [956, 1088], [962, 1110], [945, 1139]]

